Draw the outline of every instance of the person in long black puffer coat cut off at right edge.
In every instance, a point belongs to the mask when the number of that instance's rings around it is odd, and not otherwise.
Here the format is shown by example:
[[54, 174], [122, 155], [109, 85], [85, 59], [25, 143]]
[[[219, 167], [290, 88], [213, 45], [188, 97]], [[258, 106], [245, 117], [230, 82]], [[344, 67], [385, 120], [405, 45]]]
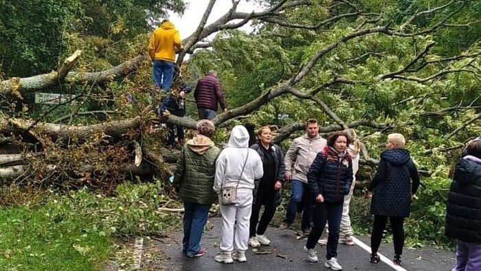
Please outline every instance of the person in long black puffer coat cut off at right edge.
[[456, 239], [452, 271], [481, 270], [481, 138], [471, 141], [454, 171], [446, 204], [446, 235]]

